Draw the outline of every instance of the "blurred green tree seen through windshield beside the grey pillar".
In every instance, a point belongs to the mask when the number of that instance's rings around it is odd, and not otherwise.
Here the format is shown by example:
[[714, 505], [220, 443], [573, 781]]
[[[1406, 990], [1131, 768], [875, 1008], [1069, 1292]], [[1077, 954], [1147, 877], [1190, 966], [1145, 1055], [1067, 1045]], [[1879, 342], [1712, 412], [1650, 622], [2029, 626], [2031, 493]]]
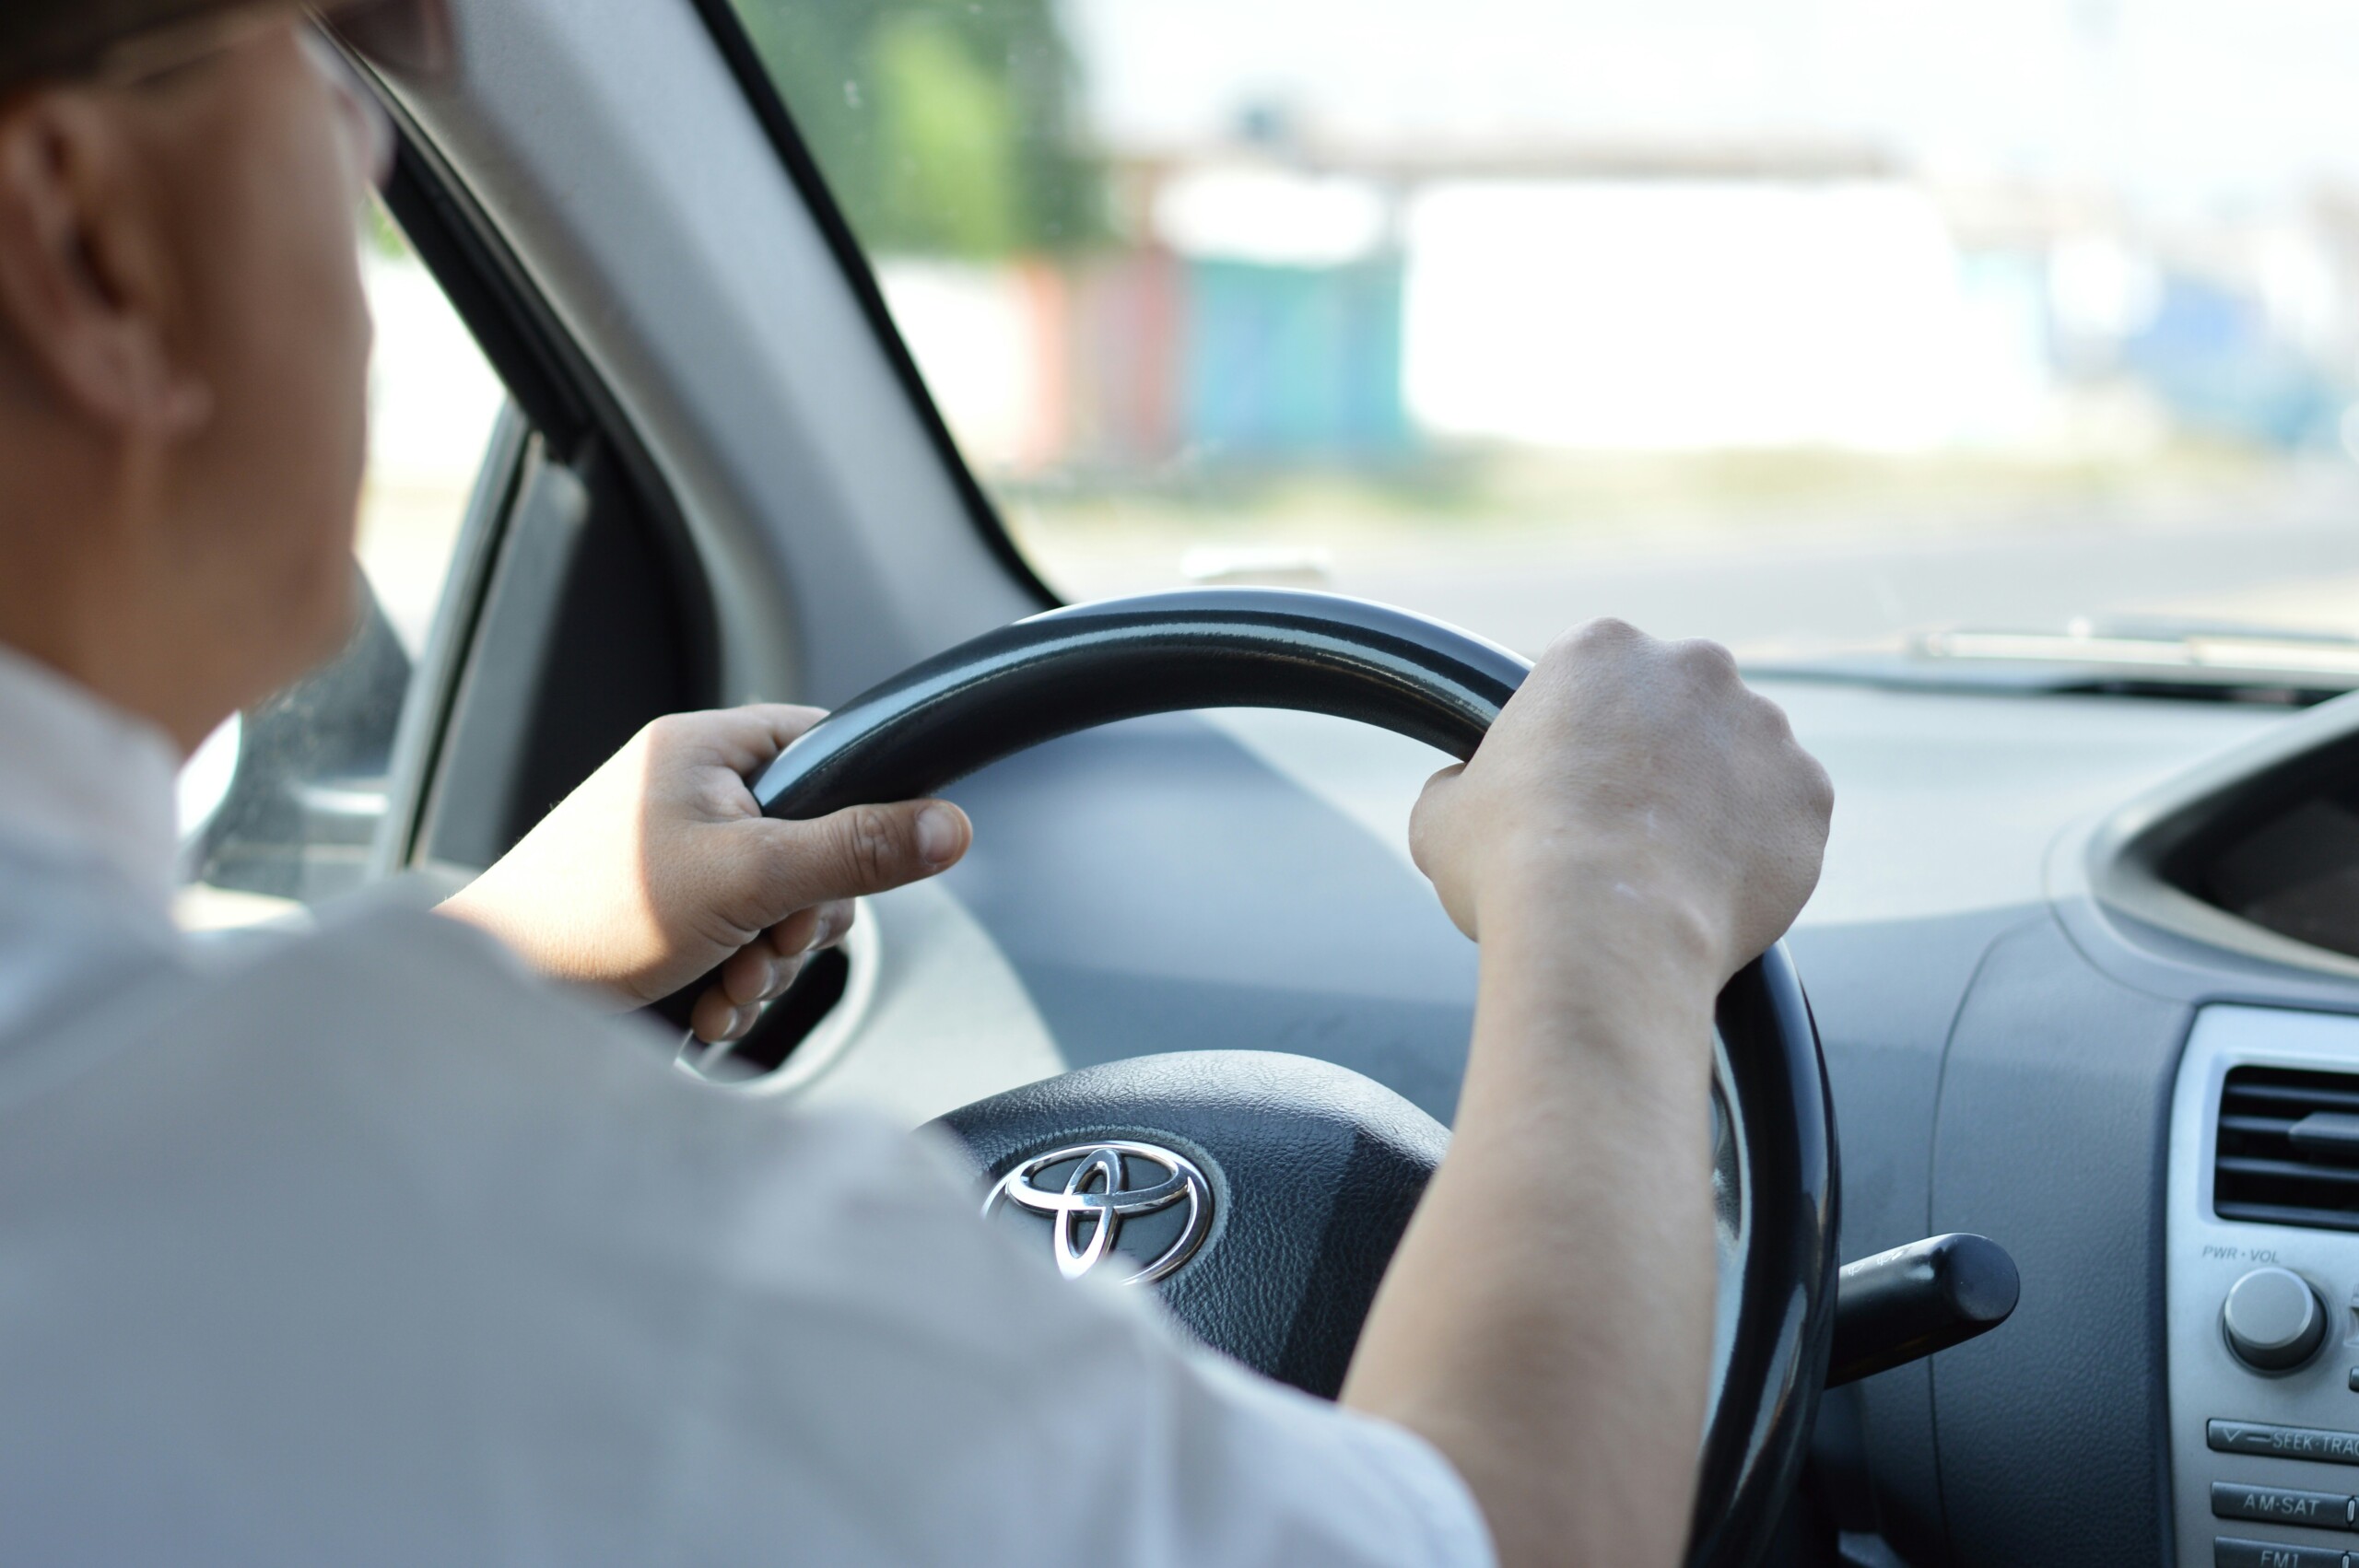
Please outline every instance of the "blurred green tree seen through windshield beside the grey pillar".
[[734, 0], [852, 231], [1005, 257], [1104, 233], [1054, 0]]

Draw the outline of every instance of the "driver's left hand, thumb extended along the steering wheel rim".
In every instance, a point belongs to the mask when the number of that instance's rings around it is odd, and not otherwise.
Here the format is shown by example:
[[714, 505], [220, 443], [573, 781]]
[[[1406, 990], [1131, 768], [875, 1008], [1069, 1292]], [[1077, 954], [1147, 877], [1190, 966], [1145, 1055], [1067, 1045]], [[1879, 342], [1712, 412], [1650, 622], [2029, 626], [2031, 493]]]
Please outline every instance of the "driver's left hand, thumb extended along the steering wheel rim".
[[821, 717], [767, 705], [656, 719], [443, 913], [616, 1009], [719, 969], [691, 1028], [745, 1035], [811, 953], [845, 938], [852, 898], [948, 870], [974, 839], [948, 802], [762, 816], [745, 780]]

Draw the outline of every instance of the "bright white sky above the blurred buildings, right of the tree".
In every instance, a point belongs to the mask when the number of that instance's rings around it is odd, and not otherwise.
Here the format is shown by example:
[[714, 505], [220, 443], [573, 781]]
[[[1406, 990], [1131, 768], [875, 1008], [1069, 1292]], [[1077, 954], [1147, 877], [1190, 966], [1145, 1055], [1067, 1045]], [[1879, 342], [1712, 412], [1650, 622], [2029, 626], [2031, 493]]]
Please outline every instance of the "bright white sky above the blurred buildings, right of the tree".
[[1857, 139], [2161, 207], [2359, 186], [2352, 0], [1066, 0], [1092, 118], [1203, 144]]

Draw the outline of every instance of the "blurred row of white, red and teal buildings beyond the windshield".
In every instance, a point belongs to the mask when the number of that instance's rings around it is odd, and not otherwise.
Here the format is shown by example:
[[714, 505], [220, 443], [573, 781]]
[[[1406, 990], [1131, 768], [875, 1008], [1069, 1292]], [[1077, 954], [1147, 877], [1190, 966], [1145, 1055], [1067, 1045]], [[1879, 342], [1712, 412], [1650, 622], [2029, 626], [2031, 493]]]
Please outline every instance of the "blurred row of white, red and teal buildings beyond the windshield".
[[995, 474], [1437, 443], [2302, 448], [2338, 439], [2359, 370], [2324, 219], [2180, 238], [1873, 149], [1217, 146], [1118, 160], [1113, 189], [1130, 219], [1092, 250], [882, 269]]

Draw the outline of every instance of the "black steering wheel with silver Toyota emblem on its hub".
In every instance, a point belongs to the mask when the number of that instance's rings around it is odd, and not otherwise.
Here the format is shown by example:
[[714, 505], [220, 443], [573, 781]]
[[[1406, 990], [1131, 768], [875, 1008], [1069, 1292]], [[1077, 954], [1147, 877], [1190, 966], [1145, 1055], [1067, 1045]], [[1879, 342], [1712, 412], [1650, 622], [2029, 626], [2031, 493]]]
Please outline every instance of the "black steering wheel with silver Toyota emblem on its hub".
[[[778, 818], [911, 799], [1057, 736], [1189, 707], [1338, 714], [1465, 759], [1529, 670], [1333, 594], [1116, 599], [1019, 620], [868, 691], [795, 740], [755, 797]], [[1448, 1144], [1382, 1085], [1274, 1052], [1111, 1061], [941, 1125], [984, 1170], [986, 1214], [1031, 1228], [1066, 1276], [1154, 1285], [1208, 1344], [1328, 1398]], [[1743, 1568], [1800, 1471], [1835, 1311], [1833, 1101], [1783, 948], [1720, 995], [1713, 1198], [1713, 1394], [1687, 1561]]]

